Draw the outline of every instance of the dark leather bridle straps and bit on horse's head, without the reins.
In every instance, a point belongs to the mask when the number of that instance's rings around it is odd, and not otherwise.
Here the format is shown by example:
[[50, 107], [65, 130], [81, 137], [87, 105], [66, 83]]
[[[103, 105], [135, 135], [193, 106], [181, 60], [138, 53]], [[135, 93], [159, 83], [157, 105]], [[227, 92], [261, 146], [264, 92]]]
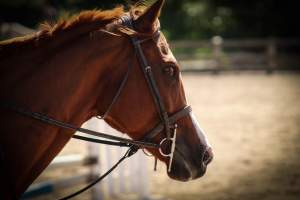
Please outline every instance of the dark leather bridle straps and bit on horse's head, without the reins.
[[[132, 16], [130, 15], [123, 15], [120, 18], [120, 22], [122, 25], [134, 30], [134, 25], [133, 25], [133, 20], [132, 20]], [[166, 137], [164, 139], [161, 140], [161, 142], [159, 143], [159, 152], [163, 157], [169, 157], [169, 164], [168, 164], [168, 172], [171, 171], [171, 167], [172, 167], [172, 161], [173, 161], [173, 155], [174, 155], [174, 151], [175, 151], [175, 145], [176, 145], [176, 131], [177, 131], [177, 124], [176, 121], [186, 115], [188, 115], [192, 109], [190, 106], [185, 106], [184, 108], [182, 108], [181, 110], [177, 111], [175, 114], [173, 115], [169, 115], [168, 112], [166, 111], [165, 105], [163, 103], [163, 99], [159, 93], [159, 89], [157, 87], [157, 83], [154, 79], [153, 73], [152, 73], [152, 67], [149, 65], [145, 54], [143, 52], [143, 49], [141, 47], [141, 44], [143, 42], [146, 42], [148, 40], [153, 40], [153, 38], [159, 37], [160, 35], [160, 29], [158, 28], [150, 38], [146, 38], [143, 40], [139, 40], [137, 37], [134, 36], [130, 36], [130, 40], [131, 43], [134, 47], [134, 52], [135, 55], [138, 59], [139, 62], [139, 66], [141, 67], [141, 70], [143, 72], [143, 75], [146, 79], [149, 91], [151, 93], [151, 96], [154, 100], [155, 103], [155, 107], [156, 110], [159, 114], [160, 117], [160, 123], [158, 125], [156, 125], [154, 128], [152, 128], [152, 130], [148, 133], [146, 133], [144, 135], [144, 137], [141, 139], [142, 141], [153, 141], [153, 138], [155, 138], [160, 132], [162, 132], [163, 130], [165, 130], [166, 133]], [[110, 112], [110, 109], [112, 108], [112, 106], [114, 105], [114, 103], [117, 101], [121, 91], [123, 90], [123, 87], [125, 86], [125, 82], [128, 79], [128, 75], [129, 75], [129, 71], [130, 71], [130, 67], [126, 73], [125, 78], [123, 79], [120, 88], [118, 89], [118, 92], [116, 93], [115, 97], [113, 98], [112, 103], [110, 104], [110, 106], [108, 107], [107, 111], [105, 112], [105, 114], [103, 115], [102, 118], [105, 119], [105, 117], [108, 115], [108, 113]], [[173, 131], [173, 133], [172, 133]], [[165, 142], [171, 142], [171, 151], [169, 154], [166, 154], [163, 152], [162, 150], [162, 146]], [[155, 162], [156, 163], [156, 162]]]

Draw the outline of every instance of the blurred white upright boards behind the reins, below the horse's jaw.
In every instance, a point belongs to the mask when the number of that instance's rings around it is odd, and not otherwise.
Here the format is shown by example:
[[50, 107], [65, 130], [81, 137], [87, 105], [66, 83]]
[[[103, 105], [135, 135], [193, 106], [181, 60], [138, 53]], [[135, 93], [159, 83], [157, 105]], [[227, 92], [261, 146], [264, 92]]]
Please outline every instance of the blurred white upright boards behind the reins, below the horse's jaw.
[[[112, 129], [104, 121], [98, 121], [101, 126], [100, 130], [105, 133], [109, 133], [117, 136], [126, 135], [119, 133], [118, 131]], [[101, 150], [105, 153], [102, 156], [104, 160], [100, 163], [104, 164], [101, 167], [101, 173], [106, 169], [110, 168], [119, 158], [123, 156], [127, 149], [121, 147], [111, 147], [102, 146]], [[137, 196], [138, 199], [148, 199], [149, 198], [149, 183], [148, 183], [148, 165], [147, 158], [143, 152], [139, 151], [136, 155], [125, 160], [120, 166], [115, 169], [115, 171], [109, 175], [103, 183], [101, 183], [102, 188], [107, 188], [107, 195], [109, 199], [117, 198], [118, 195], [125, 197], [126, 195]], [[125, 195], [125, 196], [124, 196]]]

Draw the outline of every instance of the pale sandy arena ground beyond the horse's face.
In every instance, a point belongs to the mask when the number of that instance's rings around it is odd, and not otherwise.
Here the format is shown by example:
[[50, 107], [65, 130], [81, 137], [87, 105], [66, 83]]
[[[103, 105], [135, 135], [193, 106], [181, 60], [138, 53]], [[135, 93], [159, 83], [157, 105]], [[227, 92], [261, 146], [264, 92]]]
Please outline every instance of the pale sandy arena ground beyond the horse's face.
[[[186, 183], [170, 180], [162, 163], [153, 172], [150, 161], [153, 198], [299, 200], [300, 74], [184, 74], [183, 79], [215, 159], [203, 178]], [[70, 142], [62, 154], [83, 151], [78, 144]], [[40, 180], [48, 177], [43, 173]], [[48, 198], [54, 196], [40, 199]], [[88, 193], [76, 199], [89, 199]]]

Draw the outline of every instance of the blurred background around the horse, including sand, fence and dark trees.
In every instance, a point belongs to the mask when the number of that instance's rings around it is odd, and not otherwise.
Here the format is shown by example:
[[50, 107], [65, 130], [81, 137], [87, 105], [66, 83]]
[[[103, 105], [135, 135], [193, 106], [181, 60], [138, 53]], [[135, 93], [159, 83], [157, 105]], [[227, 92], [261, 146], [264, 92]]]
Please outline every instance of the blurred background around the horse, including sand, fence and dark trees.
[[[0, 0], [0, 39], [81, 10], [132, 2]], [[167, 177], [162, 163], [154, 172], [153, 159], [140, 153], [77, 199], [298, 200], [300, 17], [294, 1], [166, 0], [160, 19], [215, 159], [203, 178], [180, 183]], [[118, 135], [95, 119], [85, 127]], [[27, 196], [54, 199], [75, 191], [121, 154], [71, 141]]]

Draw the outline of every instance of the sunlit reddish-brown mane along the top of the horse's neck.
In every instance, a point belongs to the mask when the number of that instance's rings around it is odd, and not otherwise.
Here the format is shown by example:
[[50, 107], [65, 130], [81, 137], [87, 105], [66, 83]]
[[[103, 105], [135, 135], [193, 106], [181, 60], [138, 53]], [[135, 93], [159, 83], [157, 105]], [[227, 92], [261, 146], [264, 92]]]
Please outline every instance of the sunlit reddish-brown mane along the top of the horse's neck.
[[122, 6], [119, 6], [112, 10], [83, 11], [69, 19], [60, 20], [53, 25], [46, 22], [41, 24], [40, 29], [33, 34], [1, 41], [0, 53], [3, 56], [4, 53], [11, 54], [12, 51], [17, 49], [20, 50], [37, 46], [52, 38], [63, 37], [63, 33], [67, 32], [69, 33], [67, 35], [67, 39], [69, 40], [78, 37], [81, 34], [104, 27], [123, 14], [124, 9]]

